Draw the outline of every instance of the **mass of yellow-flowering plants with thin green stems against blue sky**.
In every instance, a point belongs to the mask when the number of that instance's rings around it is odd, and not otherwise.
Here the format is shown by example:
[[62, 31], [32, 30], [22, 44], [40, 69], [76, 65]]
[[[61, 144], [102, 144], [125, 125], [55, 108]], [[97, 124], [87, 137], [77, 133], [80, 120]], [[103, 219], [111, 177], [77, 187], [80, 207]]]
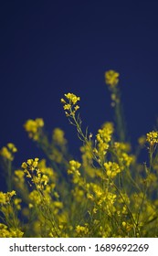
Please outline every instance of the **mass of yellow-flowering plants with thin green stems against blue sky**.
[[[17, 151], [0, 151], [6, 193], [0, 192], [0, 237], [157, 237], [158, 132], [138, 140], [136, 152], [127, 141], [121, 108], [119, 73], [105, 72], [115, 122], [103, 123], [96, 135], [82, 129], [80, 98], [61, 99], [78, 133], [80, 161], [68, 152], [65, 133], [55, 128], [51, 141], [42, 118], [24, 127], [46, 158], [27, 159], [15, 169]], [[139, 163], [146, 147], [149, 161]]]

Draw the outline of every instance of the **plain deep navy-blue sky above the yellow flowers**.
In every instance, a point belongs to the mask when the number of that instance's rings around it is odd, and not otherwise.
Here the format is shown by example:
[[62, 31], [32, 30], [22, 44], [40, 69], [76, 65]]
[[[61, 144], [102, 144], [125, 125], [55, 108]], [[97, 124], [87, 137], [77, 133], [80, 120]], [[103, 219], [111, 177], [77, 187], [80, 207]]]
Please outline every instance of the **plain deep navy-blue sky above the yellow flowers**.
[[16, 164], [37, 156], [23, 124], [42, 117], [63, 128], [78, 152], [60, 98], [81, 97], [85, 126], [112, 120], [104, 71], [121, 73], [122, 101], [133, 144], [158, 113], [157, 1], [1, 1], [0, 147], [13, 142]]

